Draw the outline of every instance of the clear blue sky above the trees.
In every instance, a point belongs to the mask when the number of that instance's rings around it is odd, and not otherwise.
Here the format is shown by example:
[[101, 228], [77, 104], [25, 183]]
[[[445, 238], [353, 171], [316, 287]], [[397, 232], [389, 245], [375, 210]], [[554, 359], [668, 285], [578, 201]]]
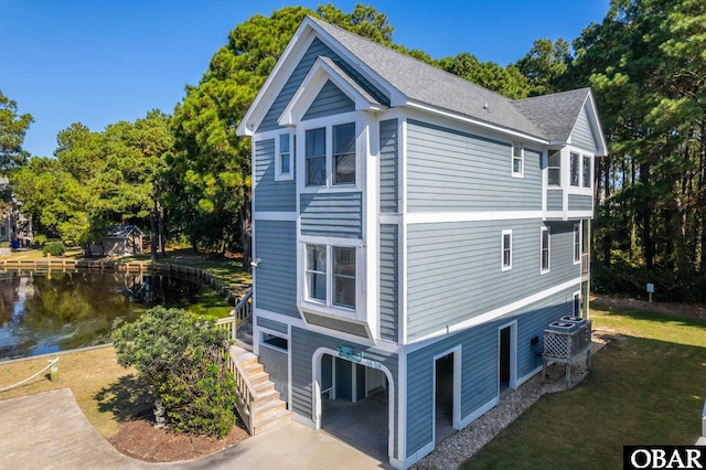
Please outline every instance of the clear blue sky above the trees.
[[[301, 1], [314, 9], [328, 1]], [[357, 1], [332, 3], [351, 12]], [[600, 22], [609, 0], [368, 0], [393, 40], [435, 58], [470, 52], [501, 65], [534, 40], [573, 41]], [[103, 130], [159, 108], [171, 114], [227, 34], [277, 0], [0, 0], [0, 90], [34, 122], [24, 149], [52, 156], [72, 122]]]

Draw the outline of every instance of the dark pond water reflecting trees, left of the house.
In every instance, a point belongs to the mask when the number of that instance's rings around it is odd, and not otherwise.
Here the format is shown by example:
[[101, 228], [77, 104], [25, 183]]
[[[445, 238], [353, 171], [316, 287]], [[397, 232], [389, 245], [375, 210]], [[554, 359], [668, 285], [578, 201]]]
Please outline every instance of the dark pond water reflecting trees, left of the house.
[[110, 342], [154, 306], [226, 317], [228, 305], [195, 279], [138, 274], [0, 273], [0, 361]]

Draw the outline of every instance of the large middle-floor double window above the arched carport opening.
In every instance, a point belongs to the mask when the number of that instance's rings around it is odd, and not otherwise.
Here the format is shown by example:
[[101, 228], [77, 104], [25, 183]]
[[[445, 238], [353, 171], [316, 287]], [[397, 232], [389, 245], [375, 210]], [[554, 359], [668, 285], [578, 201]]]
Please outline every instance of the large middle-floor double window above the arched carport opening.
[[355, 310], [355, 247], [308, 244], [307, 300]]

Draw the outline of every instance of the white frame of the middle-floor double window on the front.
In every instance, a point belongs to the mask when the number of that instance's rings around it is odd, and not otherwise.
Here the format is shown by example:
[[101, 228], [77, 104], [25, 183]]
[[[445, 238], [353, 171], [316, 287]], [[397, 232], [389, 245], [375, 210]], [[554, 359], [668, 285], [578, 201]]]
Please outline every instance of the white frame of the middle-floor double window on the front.
[[[362, 296], [362, 282], [363, 282], [363, 267], [362, 267], [362, 257], [363, 249], [360, 244], [350, 244], [338, 241], [319, 241], [319, 239], [307, 239], [301, 242], [302, 245], [302, 255], [303, 255], [303, 291], [301, 292], [301, 302], [300, 306], [302, 309], [318, 312], [318, 313], [327, 313], [334, 314], [340, 317], [346, 317], [356, 319], [357, 311], [363, 309], [364, 297]], [[325, 246], [327, 250], [327, 261], [325, 261], [325, 278], [327, 278], [327, 296], [325, 301], [321, 301], [318, 299], [309, 298], [309, 279], [307, 276], [308, 265], [307, 265], [307, 252], [309, 245], [321, 245]], [[333, 248], [353, 248], [355, 249], [355, 306], [343, 306], [334, 302], [334, 260], [333, 260]]]

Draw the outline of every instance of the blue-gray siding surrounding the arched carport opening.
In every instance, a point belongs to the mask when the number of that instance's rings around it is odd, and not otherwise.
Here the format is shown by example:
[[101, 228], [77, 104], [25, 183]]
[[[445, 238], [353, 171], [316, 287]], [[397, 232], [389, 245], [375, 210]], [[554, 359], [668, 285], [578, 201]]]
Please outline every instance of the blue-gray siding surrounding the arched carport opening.
[[[291, 329], [291, 341], [290, 341], [290, 353], [291, 353], [291, 373], [292, 373], [292, 403], [291, 409], [304, 417], [312, 417], [311, 410], [311, 400], [312, 400], [312, 389], [311, 389], [311, 360], [313, 357], [313, 353], [319, 348], [329, 348], [334, 350], [342, 345], [352, 346], [355, 352], [362, 351], [365, 354], [365, 359], [370, 359], [371, 361], [377, 361], [381, 364], [385, 365], [393, 375], [393, 382], [395, 384], [395, 391], [399, 392], [400, 387], [398, 385], [398, 371], [397, 371], [397, 355], [376, 350], [372, 346], [366, 346], [363, 344], [356, 344], [352, 341], [346, 340], [342, 342], [340, 339], [330, 338], [323, 334], [319, 334], [312, 331], [302, 330], [299, 328]], [[399, 395], [398, 395], [399, 396]], [[397, 404], [399, 403], [399, 398], [395, 397], [395, 423], [397, 423]], [[394, 446], [394, 457], [399, 458], [397, 456], [397, 432], [395, 429], [395, 446]]]

